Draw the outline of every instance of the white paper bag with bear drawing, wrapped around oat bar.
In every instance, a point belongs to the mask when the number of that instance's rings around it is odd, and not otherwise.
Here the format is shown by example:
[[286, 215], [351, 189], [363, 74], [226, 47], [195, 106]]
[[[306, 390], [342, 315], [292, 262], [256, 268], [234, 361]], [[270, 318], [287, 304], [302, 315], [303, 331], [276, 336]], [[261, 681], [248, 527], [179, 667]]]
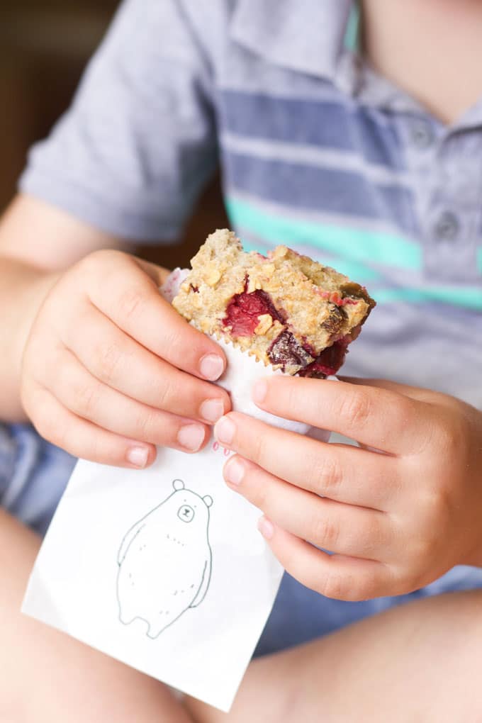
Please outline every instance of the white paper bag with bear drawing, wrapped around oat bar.
[[[185, 273], [171, 275], [166, 298]], [[308, 432], [251, 401], [254, 381], [280, 372], [221, 346], [219, 383], [235, 410]], [[142, 471], [79, 461], [22, 611], [228, 711], [283, 574], [257, 531], [259, 510], [223, 481], [229, 455], [211, 440], [195, 455], [158, 448]]]

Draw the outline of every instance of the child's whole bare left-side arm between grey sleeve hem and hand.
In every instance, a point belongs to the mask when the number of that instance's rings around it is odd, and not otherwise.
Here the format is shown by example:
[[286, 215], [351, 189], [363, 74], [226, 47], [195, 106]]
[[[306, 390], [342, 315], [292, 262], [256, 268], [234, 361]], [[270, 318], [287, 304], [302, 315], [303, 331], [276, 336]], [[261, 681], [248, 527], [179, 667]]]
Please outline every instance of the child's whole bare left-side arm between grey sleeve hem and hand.
[[19, 196], [0, 220], [0, 420], [25, 419], [20, 369], [25, 341], [46, 294], [90, 252], [129, 244], [30, 196]]

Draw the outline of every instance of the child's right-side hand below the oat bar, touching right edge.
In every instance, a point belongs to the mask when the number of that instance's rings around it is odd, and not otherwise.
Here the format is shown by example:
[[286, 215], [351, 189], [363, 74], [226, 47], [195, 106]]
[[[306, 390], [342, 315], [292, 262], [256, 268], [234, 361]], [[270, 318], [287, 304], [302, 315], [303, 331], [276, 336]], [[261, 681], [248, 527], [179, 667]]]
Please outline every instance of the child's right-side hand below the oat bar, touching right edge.
[[266, 515], [260, 530], [278, 560], [304, 585], [345, 600], [412, 591], [460, 563], [482, 566], [482, 413], [429, 390], [350, 382], [272, 378], [257, 383], [254, 399], [384, 454], [242, 414], [216, 425], [239, 455], [225, 479]]

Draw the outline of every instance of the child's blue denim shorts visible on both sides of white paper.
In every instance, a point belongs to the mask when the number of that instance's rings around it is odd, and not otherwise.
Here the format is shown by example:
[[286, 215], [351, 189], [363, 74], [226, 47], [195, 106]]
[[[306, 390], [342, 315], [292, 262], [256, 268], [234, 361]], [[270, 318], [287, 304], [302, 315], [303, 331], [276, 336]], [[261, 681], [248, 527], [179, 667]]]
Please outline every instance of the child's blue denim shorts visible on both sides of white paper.
[[[27, 424], [0, 425], [0, 503], [45, 534], [76, 460]], [[459, 566], [421, 590], [366, 602], [325, 598], [285, 574], [256, 655], [319, 638], [363, 617], [412, 599], [482, 588], [482, 569]]]

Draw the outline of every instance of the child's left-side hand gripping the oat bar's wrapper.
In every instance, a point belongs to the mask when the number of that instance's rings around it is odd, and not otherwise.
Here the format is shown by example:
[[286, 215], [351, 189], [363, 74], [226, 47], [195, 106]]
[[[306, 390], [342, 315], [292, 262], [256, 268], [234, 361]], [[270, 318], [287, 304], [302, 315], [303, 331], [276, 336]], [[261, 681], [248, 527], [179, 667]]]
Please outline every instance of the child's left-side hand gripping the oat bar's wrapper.
[[154, 445], [197, 451], [231, 408], [217, 344], [160, 296], [165, 271], [117, 251], [78, 262], [46, 297], [25, 345], [22, 404], [77, 457], [145, 467]]

